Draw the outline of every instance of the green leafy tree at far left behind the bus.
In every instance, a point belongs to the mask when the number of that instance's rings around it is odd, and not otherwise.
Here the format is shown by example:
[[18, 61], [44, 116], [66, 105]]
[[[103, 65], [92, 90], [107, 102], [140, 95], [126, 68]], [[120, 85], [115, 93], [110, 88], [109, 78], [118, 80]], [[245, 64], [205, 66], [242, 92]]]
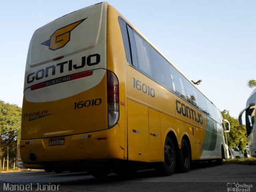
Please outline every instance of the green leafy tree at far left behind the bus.
[[2, 168], [2, 156], [7, 155], [7, 148], [10, 152], [16, 149], [17, 134], [21, 126], [21, 112], [22, 109], [19, 106], [0, 100], [0, 169]]

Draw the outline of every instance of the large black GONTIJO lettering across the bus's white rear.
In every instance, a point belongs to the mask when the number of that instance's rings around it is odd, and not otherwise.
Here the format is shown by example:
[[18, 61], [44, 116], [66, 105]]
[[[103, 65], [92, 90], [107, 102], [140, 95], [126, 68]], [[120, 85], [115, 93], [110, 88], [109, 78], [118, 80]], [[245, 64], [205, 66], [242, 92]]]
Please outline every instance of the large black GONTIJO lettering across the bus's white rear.
[[100, 54], [92, 54], [89, 55], [87, 58], [86, 56], [83, 56], [81, 59], [81, 64], [73, 64], [72, 60], [60, 62], [56, 65], [48, 66], [46, 68], [40, 69], [36, 72], [32, 72], [28, 74], [27, 76], [27, 83], [30, 84], [34, 82], [35, 80], [40, 80], [49, 76], [54, 77], [56, 74], [61, 74], [65, 70], [72, 71], [77, 70], [80, 68], [84, 68], [86, 64], [88, 66], [94, 66], [100, 63]]

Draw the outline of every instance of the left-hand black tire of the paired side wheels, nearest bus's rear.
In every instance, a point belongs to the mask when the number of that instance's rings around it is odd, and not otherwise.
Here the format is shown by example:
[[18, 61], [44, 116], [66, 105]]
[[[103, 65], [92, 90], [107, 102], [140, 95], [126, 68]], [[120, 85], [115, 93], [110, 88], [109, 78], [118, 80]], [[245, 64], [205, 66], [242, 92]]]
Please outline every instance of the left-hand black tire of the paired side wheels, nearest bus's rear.
[[164, 144], [164, 162], [156, 166], [156, 171], [162, 176], [173, 174], [176, 165], [175, 148], [170, 137], [166, 137]]

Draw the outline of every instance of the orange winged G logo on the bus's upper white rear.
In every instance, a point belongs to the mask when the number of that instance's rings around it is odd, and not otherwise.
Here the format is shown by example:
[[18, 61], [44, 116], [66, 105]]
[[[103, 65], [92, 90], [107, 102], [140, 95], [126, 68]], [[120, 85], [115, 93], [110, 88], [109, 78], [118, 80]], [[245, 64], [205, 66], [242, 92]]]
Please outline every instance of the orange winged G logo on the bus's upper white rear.
[[50, 39], [41, 43], [42, 45], [49, 46], [50, 50], [57, 50], [64, 47], [70, 41], [70, 33], [85, 19], [79, 20], [60, 29], [57, 29], [51, 36]]

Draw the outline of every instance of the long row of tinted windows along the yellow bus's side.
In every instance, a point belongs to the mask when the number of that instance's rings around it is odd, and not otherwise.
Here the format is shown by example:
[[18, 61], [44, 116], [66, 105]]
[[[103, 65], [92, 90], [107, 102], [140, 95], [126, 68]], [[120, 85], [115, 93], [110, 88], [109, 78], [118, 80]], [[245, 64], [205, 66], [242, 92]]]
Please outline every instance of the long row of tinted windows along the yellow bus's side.
[[172, 90], [206, 115], [220, 122], [218, 110], [174, 66], [159, 54], [144, 38], [120, 19], [126, 57], [129, 63], [139, 68], [158, 84]]

